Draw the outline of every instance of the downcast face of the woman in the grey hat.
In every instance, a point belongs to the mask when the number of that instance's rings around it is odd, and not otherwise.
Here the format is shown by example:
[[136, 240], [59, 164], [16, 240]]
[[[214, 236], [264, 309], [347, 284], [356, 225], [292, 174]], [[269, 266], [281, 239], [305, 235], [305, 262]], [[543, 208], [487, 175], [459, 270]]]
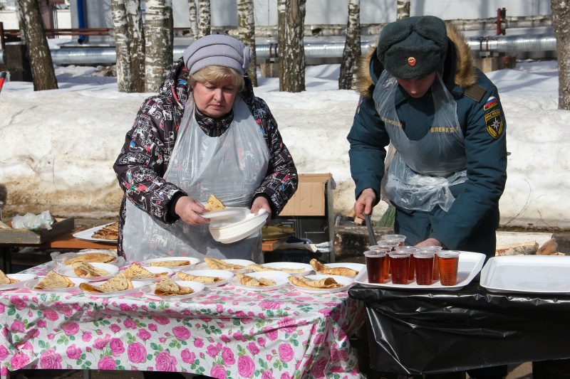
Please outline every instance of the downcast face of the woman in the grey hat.
[[219, 83], [197, 82], [192, 88], [192, 92], [198, 110], [217, 119], [232, 109], [237, 95], [237, 87], [232, 85], [232, 80], [228, 78]]

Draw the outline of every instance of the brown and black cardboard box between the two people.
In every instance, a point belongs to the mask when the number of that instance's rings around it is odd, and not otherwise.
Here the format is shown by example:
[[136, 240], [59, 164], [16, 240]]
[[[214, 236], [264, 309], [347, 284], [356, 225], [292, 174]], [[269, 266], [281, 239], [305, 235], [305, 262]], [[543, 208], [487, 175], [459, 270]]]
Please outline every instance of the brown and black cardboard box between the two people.
[[283, 224], [295, 230], [295, 237], [312, 243], [330, 242], [328, 262], [334, 262], [332, 174], [299, 174], [294, 196], [270, 225]]

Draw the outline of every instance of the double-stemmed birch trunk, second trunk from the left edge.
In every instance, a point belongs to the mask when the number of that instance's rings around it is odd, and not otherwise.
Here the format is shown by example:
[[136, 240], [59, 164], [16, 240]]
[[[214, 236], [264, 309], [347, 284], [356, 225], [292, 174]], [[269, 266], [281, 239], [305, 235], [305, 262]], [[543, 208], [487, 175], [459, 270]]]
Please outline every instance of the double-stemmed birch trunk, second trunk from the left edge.
[[145, 90], [145, 45], [138, 0], [111, 0], [119, 92]]

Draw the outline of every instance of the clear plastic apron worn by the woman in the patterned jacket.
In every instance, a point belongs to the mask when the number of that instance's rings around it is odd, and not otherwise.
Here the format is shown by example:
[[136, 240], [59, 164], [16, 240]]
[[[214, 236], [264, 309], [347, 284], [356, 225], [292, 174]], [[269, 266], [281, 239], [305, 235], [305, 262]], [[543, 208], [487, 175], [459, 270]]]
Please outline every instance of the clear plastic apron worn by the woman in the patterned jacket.
[[[165, 180], [200, 203], [214, 193], [228, 207], [249, 208], [269, 165], [269, 149], [249, 107], [236, 97], [234, 121], [220, 137], [208, 137], [199, 127], [193, 100], [186, 107]], [[179, 219], [166, 225], [130, 201], [126, 210], [123, 250], [129, 262], [168, 256], [263, 262], [261, 232], [223, 244], [213, 239], [208, 224], [188, 225]]]

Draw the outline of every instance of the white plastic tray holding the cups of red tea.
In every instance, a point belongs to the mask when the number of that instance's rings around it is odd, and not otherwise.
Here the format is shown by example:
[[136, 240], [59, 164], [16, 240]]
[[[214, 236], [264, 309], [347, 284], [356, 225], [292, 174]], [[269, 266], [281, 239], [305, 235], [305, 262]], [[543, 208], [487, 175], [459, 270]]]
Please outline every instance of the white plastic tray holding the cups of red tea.
[[368, 283], [368, 272], [366, 266], [362, 271], [356, 275], [354, 282], [362, 284], [364, 287], [385, 287], [385, 288], [398, 288], [398, 289], [443, 289], [446, 291], [457, 291], [462, 289], [479, 274], [485, 255], [479, 252], [462, 251], [459, 255], [459, 264], [457, 265], [457, 284], [455, 286], [442, 286], [438, 280], [428, 286], [420, 286], [415, 280], [409, 284], [393, 284], [391, 281], [387, 283]]

